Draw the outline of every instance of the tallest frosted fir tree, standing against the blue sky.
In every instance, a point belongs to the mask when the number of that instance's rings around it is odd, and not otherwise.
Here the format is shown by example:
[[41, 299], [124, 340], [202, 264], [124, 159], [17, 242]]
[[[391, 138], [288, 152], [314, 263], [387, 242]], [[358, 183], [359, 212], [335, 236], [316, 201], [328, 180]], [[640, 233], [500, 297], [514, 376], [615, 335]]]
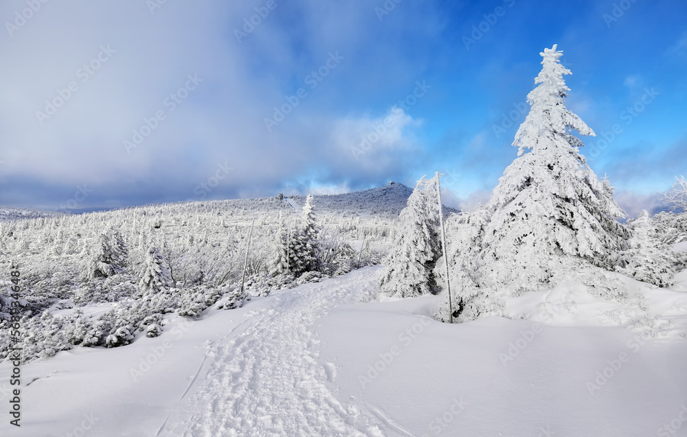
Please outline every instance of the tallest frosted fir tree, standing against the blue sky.
[[613, 269], [628, 236], [617, 221], [624, 212], [613, 188], [597, 179], [578, 150], [583, 142], [572, 135], [596, 136], [565, 107], [570, 88], [563, 75], [570, 70], [559, 63], [563, 52], [554, 45], [540, 54], [530, 112], [513, 141], [518, 157], [494, 189], [483, 241], [483, 278], [515, 294], [538, 289], [579, 262]]

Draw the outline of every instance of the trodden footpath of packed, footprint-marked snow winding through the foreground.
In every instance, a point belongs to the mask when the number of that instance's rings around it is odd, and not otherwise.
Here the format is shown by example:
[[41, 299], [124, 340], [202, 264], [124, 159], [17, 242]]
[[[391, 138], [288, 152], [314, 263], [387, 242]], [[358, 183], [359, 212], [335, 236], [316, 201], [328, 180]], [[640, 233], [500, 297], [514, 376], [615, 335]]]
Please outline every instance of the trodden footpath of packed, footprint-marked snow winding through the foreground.
[[379, 414], [343, 405], [328, 390], [334, 366], [318, 363], [310, 330], [330, 309], [355, 302], [378, 274], [365, 269], [273, 296], [272, 309], [210, 344], [205, 381], [195, 396], [181, 397], [157, 435], [383, 436], [379, 426], [389, 425]]

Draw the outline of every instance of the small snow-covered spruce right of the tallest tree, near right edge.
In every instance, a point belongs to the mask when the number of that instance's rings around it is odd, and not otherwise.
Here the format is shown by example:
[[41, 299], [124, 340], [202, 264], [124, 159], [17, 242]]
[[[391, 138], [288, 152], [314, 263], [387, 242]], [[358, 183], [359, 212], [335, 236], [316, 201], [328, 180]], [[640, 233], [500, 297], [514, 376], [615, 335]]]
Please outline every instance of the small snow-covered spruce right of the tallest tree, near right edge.
[[658, 287], [672, 287], [675, 284], [675, 257], [671, 256], [671, 247], [658, 238], [649, 212], [642, 211], [638, 219], [632, 222], [632, 226], [630, 247], [621, 254], [627, 264], [617, 267], [617, 270], [625, 276]]

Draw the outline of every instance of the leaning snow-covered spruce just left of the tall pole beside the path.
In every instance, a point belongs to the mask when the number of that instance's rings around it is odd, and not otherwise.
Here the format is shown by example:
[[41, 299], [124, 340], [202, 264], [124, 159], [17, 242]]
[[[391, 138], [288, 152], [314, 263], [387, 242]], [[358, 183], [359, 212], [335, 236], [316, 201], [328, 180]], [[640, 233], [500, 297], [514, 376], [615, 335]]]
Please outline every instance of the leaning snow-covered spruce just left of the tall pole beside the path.
[[399, 229], [379, 291], [399, 298], [430, 293], [435, 287], [432, 269], [439, 258], [439, 205], [436, 179], [420, 179], [399, 215]]

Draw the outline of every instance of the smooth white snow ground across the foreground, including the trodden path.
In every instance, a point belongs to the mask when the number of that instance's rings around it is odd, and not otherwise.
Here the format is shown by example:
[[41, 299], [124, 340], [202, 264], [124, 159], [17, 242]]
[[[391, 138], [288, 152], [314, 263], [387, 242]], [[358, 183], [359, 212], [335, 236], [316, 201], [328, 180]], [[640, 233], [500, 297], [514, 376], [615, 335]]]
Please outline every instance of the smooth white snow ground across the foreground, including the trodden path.
[[[442, 296], [361, 302], [381, 269], [199, 321], [172, 316], [160, 337], [128, 346], [28, 363], [22, 426], [6, 420], [1, 435], [686, 435], [686, 293], [646, 289], [646, 305], [673, 320], [657, 339], [580, 313], [563, 326], [534, 316], [451, 325], [431, 318]], [[565, 301], [556, 293], [527, 299]], [[0, 363], [4, 405], [10, 372]]]

